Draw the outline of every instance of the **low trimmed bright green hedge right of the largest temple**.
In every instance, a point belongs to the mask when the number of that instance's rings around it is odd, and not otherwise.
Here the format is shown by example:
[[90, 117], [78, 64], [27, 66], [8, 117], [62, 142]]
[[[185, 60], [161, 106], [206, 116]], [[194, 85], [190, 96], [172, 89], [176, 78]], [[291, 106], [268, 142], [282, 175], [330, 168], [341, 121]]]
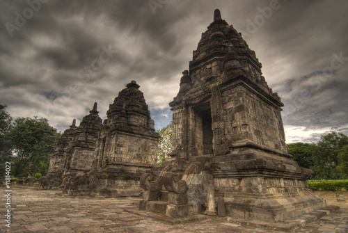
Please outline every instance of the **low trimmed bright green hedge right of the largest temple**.
[[308, 181], [311, 191], [348, 191], [348, 180]]

